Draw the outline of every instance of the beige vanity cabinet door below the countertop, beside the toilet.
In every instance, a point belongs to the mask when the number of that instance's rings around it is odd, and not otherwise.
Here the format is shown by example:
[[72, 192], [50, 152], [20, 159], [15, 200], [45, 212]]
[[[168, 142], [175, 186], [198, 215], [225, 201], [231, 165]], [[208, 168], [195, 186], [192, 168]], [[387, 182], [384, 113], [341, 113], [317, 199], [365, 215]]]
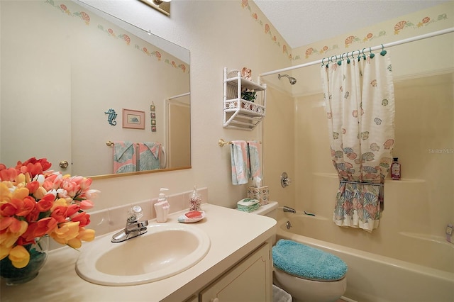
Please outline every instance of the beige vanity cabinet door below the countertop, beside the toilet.
[[265, 243], [199, 294], [201, 302], [272, 301], [270, 244]]

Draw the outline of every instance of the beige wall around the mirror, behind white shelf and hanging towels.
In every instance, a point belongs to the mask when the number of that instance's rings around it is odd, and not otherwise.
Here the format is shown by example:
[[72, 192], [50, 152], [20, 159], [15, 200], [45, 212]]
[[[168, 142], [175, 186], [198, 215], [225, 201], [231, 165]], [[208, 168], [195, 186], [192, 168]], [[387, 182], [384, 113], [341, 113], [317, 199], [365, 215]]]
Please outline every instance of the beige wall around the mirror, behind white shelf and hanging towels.
[[[92, 187], [102, 191], [96, 209], [155, 198], [163, 186], [175, 194], [194, 185], [209, 188], [211, 203], [235, 207], [247, 186], [231, 184], [230, 148], [219, 147], [218, 139], [262, 137], [260, 127], [253, 131], [223, 128], [223, 67], [249, 67], [254, 81], [262, 72], [287, 67], [290, 62], [282, 53], [282, 38], [272, 27], [265, 33], [267, 21], [252, 1], [249, 6], [244, 5], [247, 1], [172, 1], [170, 18], [135, 0], [84, 2], [150, 28], [191, 51], [192, 169], [96, 180]], [[265, 174], [264, 183], [280, 186], [280, 173], [279, 169]], [[270, 194], [277, 198], [274, 191]]]

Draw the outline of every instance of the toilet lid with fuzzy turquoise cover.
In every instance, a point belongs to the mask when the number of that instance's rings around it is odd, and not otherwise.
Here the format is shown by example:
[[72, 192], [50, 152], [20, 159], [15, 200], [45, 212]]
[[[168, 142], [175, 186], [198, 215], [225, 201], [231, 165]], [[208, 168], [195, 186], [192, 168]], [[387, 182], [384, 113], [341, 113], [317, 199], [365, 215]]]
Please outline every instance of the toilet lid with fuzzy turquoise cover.
[[293, 240], [277, 241], [272, 247], [272, 261], [277, 269], [309, 280], [336, 281], [347, 272], [341, 258]]

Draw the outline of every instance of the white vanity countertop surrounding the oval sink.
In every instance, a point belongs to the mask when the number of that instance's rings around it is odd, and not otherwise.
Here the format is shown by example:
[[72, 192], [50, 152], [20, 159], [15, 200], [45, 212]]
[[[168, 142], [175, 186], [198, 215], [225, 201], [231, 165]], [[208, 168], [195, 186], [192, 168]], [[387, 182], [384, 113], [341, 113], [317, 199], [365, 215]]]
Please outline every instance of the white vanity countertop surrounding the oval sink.
[[[149, 284], [101, 286], [80, 278], [74, 268], [79, 251], [62, 247], [49, 253], [45, 266], [32, 281], [6, 286], [2, 280], [0, 300], [184, 301], [276, 233], [276, 221], [272, 218], [208, 203], [202, 207], [206, 218], [192, 225], [209, 235], [211, 247], [204, 259], [182, 273]], [[167, 222], [177, 223], [177, 217], [184, 212], [172, 213]], [[150, 223], [155, 223], [155, 220], [150, 220]], [[80, 250], [89, 244], [84, 242]]]

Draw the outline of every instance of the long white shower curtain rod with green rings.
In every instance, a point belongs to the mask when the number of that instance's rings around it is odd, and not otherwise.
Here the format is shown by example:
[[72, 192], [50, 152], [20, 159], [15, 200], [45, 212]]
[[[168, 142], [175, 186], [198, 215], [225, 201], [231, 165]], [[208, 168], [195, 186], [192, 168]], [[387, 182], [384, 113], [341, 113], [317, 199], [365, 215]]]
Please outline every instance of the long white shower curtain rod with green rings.
[[[404, 44], [404, 43], [414, 42], [414, 41], [417, 41], [417, 40], [423, 40], [423, 39], [426, 39], [426, 38], [432, 38], [432, 37], [435, 37], [437, 35], [444, 35], [445, 33], [453, 33], [453, 32], [454, 32], [454, 28], [446, 28], [446, 29], [443, 29], [443, 30], [434, 31], [433, 33], [426, 33], [425, 35], [416, 35], [416, 36], [414, 36], [412, 38], [407, 38], [407, 39], [399, 40], [399, 41], [392, 42], [392, 43], [377, 45], [377, 46], [374, 46], [374, 47], [365, 47], [362, 50], [367, 50], [369, 52], [372, 52], [374, 50], [380, 50], [382, 48], [387, 48], [387, 47], [392, 47], [392, 46], [396, 46], [396, 45], [401, 45], [401, 44]], [[355, 51], [359, 52], [358, 55], [360, 54], [359, 50], [353, 50], [353, 52], [355, 52]], [[353, 52], [352, 52], [352, 55], [353, 55]], [[346, 52], [346, 54], [348, 55], [348, 52]], [[321, 64], [324, 60], [326, 60], [326, 63], [327, 63], [327, 62], [331, 61], [332, 57], [336, 57], [335, 60], [337, 62], [337, 60], [341, 59], [341, 56], [343, 57], [343, 55], [345, 55], [345, 52], [343, 54], [341, 54], [341, 55], [333, 55], [331, 57], [324, 57], [323, 59], [317, 60], [317, 61], [314, 61], [314, 62], [309, 62], [309, 63], [304, 63], [304, 64], [301, 64], [301, 65], [295, 65], [295, 66], [292, 66], [292, 67], [277, 69], [277, 70], [273, 70], [271, 72], [264, 72], [264, 73], [258, 75], [259, 82], [260, 82], [260, 77], [265, 77], [265, 76], [270, 75], [270, 74], [277, 74], [279, 72], [287, 72], [289, 70], [298, 69], [298, 68], [302, 68], [302, 67], [308, 67], [308, 66], [311, 66], [311, 65]]]

